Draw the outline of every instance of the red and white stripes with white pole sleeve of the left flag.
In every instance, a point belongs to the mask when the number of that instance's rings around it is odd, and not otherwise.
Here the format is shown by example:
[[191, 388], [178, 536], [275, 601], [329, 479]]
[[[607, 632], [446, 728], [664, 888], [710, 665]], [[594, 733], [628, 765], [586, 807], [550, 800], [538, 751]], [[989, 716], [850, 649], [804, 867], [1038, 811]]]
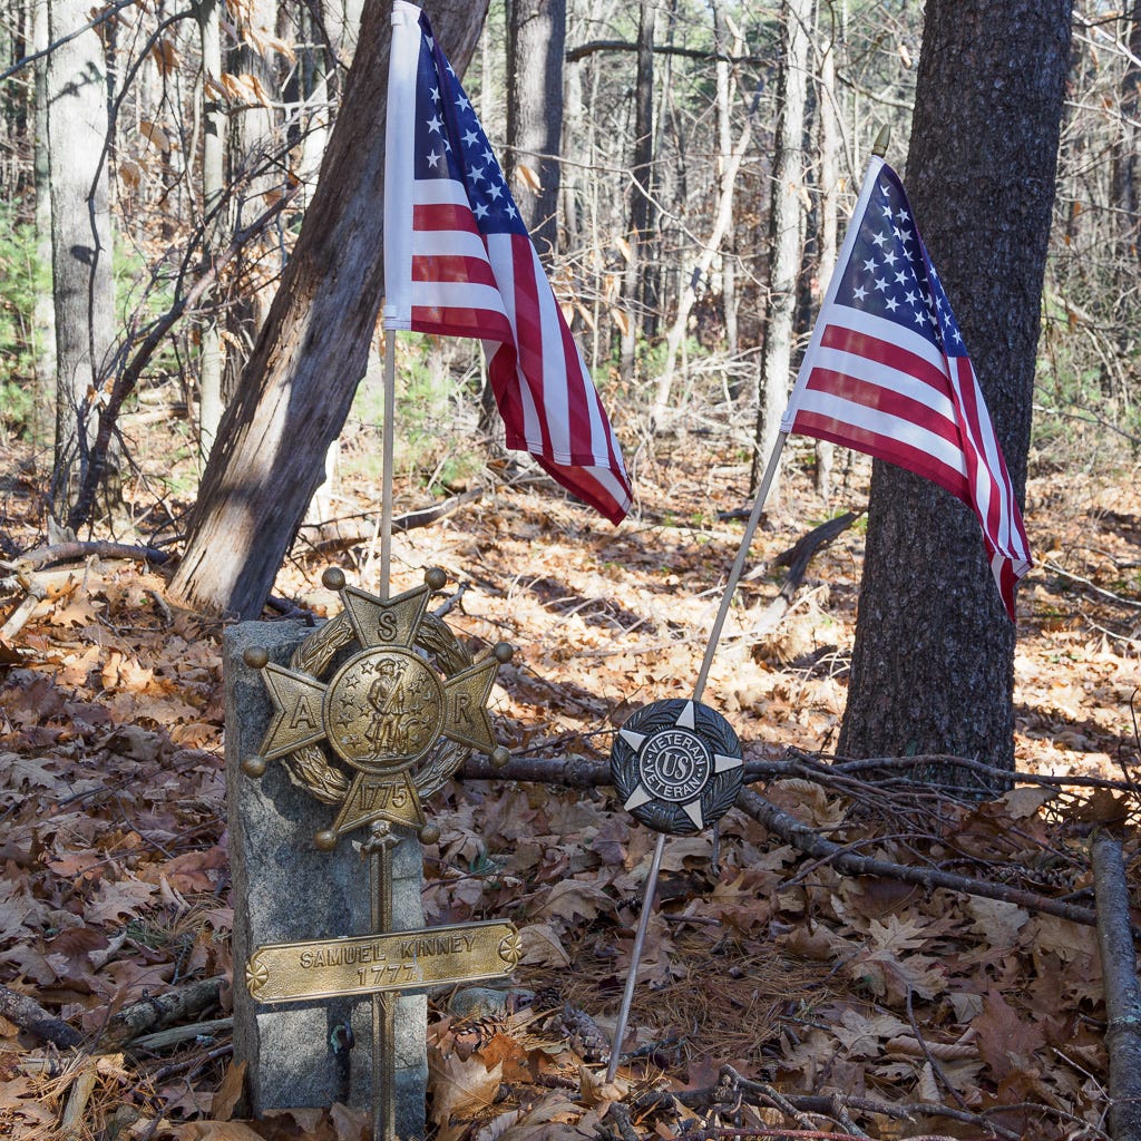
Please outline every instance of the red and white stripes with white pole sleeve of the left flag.
[[[531, 240], [483, 234], [461, 183], [413, 177], [419, 9], [394, 7], [385, 187], [385, 327], [484, 342], [508, 447], [612, 523], [631, 492], [609, 420]], [[396, 108], [403, 108], [397, 112]]]

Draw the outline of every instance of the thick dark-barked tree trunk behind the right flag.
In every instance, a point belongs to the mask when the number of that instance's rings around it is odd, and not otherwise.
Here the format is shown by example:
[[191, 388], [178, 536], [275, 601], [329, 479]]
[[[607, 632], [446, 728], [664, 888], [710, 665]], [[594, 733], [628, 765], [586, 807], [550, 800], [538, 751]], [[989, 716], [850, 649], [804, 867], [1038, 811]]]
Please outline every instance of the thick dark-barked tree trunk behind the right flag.
[[[1021, 500], [1069, 0], [929, 0], [907, 184]], [[875, 461], [847, 756], [1013, 767], [1014, 628], [974, 515]]]

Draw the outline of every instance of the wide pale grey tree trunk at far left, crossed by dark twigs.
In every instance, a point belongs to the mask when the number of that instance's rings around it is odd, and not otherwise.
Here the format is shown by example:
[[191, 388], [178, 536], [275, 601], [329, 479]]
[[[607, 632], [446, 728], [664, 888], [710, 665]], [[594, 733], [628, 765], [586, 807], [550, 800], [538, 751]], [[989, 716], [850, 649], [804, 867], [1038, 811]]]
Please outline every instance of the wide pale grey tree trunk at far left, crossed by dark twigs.
[[107, 189], [107, 76], [86, 0], [52, 0], [48, 37], [48, 163], [56, 324], [56, 444], [51, 479], [57, 518], [75, 495], [95, 434], [92, 396], [114, 331]]

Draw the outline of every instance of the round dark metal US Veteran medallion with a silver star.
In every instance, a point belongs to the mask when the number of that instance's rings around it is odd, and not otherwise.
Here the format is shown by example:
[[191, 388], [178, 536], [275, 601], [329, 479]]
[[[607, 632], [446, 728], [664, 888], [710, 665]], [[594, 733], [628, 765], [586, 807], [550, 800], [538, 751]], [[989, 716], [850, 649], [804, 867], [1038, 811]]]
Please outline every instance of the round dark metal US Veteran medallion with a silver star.
[[628, 718], [610, 750], [623, 808], [655, 832], [688, 835], [733, 807], [744, 777], [741, 742], [717, 710], [670, 698]]

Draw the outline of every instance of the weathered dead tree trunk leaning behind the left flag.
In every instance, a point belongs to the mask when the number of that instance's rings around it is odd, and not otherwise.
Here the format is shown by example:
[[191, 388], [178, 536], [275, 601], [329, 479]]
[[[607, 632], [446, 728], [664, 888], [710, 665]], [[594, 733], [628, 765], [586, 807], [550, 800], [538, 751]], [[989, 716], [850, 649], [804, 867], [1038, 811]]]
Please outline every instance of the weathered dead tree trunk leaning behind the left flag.
[[[389, 6], [372, 0], [297, 245], [218, 429], [171, 597], [256, 617], [324, 475], [383, 289]], [[458, 74], [486, 3], [446, 0], [432, 26]]]

